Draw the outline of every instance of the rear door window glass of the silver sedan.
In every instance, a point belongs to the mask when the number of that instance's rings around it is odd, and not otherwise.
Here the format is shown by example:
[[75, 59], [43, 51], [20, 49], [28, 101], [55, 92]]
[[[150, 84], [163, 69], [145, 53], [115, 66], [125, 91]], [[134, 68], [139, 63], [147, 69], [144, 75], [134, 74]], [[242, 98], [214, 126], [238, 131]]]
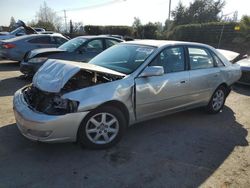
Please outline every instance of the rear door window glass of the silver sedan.
[[213, 57], [203, 48], [188, 48], [191, 70], [207, 69], [214, 67]]

